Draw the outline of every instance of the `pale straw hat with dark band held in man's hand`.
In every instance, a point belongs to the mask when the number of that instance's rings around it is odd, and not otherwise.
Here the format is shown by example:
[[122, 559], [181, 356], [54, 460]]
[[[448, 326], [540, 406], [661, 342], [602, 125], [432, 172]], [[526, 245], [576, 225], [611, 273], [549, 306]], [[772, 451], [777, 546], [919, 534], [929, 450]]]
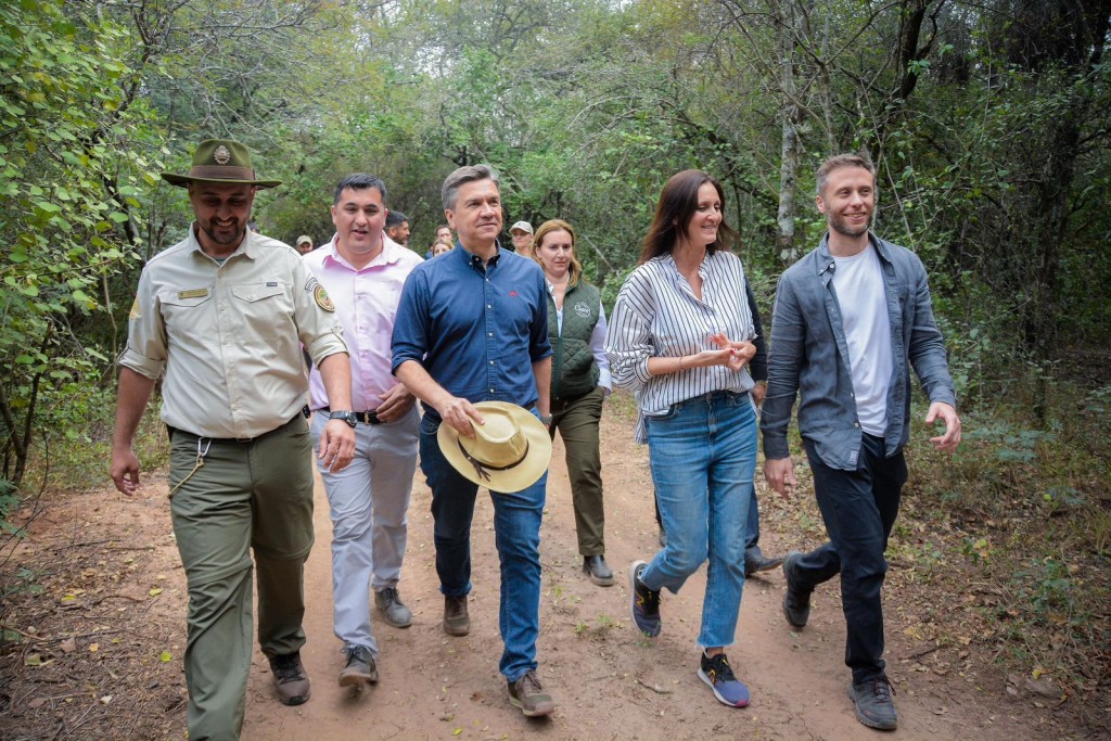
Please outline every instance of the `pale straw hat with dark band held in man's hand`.
[[528, 489], [548, 470], [552, 440], [548, 429], [527, 409], [503, 401], [480, 401], [474, 409], [486, 424], [464, 438], [440, 424], [438, 442], [452, 468], [490, 491], [512, 493]]

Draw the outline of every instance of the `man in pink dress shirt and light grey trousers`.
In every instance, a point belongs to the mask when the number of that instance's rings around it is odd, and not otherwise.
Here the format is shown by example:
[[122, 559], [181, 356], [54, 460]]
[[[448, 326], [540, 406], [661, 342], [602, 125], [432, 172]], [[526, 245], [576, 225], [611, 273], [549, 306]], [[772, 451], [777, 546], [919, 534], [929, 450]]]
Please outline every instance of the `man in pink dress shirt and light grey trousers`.
[[409, 272], [422, 260], [383, 232], [386, 184], [351, 174], [336, 188], [336, 236], [304, 264], [336, 304], [351, 357], [351, 410], [330, 409], [316, 368], [309, 379], [319, 434], [329, 414], [354, 425], [356, 454], [342, 471], [320, 467], [332, 518], [333, 629], [343, 641], [341, 687], [378, 681], [370, 590], [383, 619], [408, 628], [412, 612], [398, 594], [417, 470], [420, 417], [413, 397], [390, 373], [390, 336]]

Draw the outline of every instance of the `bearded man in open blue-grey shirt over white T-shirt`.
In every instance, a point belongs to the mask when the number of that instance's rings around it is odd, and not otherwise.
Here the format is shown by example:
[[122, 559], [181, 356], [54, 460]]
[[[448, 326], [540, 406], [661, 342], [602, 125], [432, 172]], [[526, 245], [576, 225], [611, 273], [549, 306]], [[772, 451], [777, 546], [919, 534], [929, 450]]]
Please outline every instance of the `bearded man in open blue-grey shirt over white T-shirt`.
[[829, 231], [780, 279], [760, 429], [764, 478], [785, 497], [797, 484], [787, 430], [800, 397], [799, 432], [830, 542], [787, 555], [783, 613], [804, 627], [811, 592], [841, 574], [857, 718], [893, 730], [880, 592], [883, 551], [907, 481], [911, 366], [930, 398], [927, 423], [945, 424], [930, 442], [954, 451], [961, 421], [925, 268], [913, 252], [869, 230], [871, 162], [844, 154], [827, 160], [818, 170], [817, 201]]

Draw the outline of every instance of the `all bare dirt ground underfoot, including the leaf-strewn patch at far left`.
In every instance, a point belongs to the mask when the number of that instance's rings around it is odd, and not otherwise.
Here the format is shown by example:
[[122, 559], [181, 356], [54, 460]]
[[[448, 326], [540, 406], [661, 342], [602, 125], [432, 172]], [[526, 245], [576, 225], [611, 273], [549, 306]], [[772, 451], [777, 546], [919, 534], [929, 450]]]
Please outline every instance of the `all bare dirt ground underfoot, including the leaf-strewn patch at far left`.
[[[810, 624], [793, 631], [781, 613], [780, 571], [745, 584], [738, 643], [729, 654], [752, 692], [747, 709], [718, 703], [697, 677], [704, 570], [678, 595], [664, 593], [661, 637], [645, 639], [632, 627], [628, 567], [658, 548], [648, 451], [632, 442], [632, 423], [628, 400], [607, 404], [607, 559], [618, 575], [610, 588], [592, 584], [581, 572], [557, 439], [542, 530], [539, 641], [539, 674], [558, 702], [551, 717], [524, 718], [510, 705], [498, 673], [498, 559], [492, 508], [483, 493], [472, 540], [471, 633], [444, 634], [430, 492], [418, 470], [400, 583], [416, 621], [398, 630], [376, 620], [379, 683], [352, 691], [336, 681], [342, 653], [331, 628], [331, 525], [318, 479], [317, 544], [306, 580], [309, 641], [302, 651], [312, 699], [297, 708], [281, 705], [268, 662], [256, 651], [243, 738], [833, 740], [878, 734], [857, 722], [847, 697], [844, 622], [835, 585], [819, 590]], [[800, 492], [802, 503], [788, 507], [762, 484], [760, 491], [765, 552], [818, 544], [817, 510], [805, 502], [811, 493]], [[180, 658], [187, 595], [164, 471], [146, 474], [136, 499], [101, 488], [52, 500], [13, 562], [7, 587], [21, 591], [9, 592], [4, 610], [0, 739], [186, 738]], [[1063, 735], [1045, 703], [1008, 697], [1005, 680], [987, 657], [973, 654], [955, 664], [940, 658], [937, 644], [915, 639], [908, 614], [914, 602], [899, 575], [897, 569], [887, 589], [887, 659], [900, 729], [888, 738]]]

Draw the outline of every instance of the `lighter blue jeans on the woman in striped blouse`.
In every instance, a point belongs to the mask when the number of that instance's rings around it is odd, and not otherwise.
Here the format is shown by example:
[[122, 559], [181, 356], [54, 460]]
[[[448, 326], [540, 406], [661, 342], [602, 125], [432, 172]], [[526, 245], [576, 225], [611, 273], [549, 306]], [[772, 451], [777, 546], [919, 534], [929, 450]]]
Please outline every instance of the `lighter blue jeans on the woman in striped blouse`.
[[709, 559], [699, 645], [731, 645], [744, 589], [744, 544], [757, 464], [747, 393], [715, 391], [645, 417], [652, 481], [668, 544], [641, 573], [678, 592]]

